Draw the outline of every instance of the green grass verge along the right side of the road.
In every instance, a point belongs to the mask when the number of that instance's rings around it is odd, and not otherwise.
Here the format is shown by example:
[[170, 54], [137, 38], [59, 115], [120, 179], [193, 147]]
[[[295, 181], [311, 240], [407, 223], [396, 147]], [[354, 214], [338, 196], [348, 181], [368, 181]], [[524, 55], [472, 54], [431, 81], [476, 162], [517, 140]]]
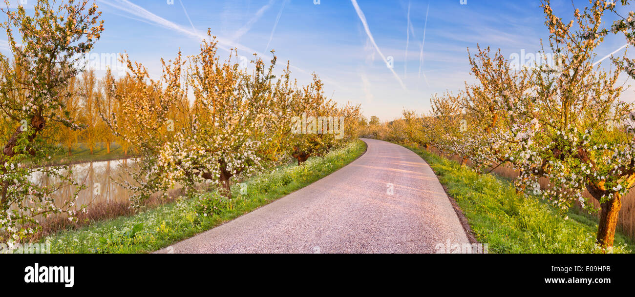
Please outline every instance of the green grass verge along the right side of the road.
[[[504, 178], [410, 149], [428, 162], [490, 253], [599, 253], [596, 220], [573, 211], [563, 215], [537, 197], [517, 194]], [[631, 253], [631, 246], [626, 236], [616, 234], [613, 253]]]

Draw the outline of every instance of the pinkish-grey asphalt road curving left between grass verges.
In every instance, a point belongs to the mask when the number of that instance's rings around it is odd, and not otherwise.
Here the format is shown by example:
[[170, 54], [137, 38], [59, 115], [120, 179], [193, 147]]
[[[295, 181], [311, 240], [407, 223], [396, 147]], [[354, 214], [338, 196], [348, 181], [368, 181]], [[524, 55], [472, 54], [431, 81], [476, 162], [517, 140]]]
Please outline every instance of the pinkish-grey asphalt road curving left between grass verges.
[[368, 151], [335, 173], [157, 253], [436, 253], [448, 240], [469, 243], [423, 159], [364, 142]]

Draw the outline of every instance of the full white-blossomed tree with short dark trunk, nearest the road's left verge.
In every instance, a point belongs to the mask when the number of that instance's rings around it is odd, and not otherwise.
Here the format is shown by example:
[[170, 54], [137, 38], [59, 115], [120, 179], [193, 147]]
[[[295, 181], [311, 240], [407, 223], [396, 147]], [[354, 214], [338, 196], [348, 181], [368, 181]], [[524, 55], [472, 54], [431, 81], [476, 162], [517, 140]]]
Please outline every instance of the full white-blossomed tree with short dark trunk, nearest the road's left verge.
[[[211, 39], [211, 34], [208, 31]], [[194, 93], [192, 123], [164, 145], [158, 166], [170, 182], [193, 187], [203, 181], [220, 186], [231, 197], [231, 181], [264, 167], [271, 158], [269, 135], [263, 129], [272, 107], [275, 58], [269, 67], [255, 58], [253, 73], [241, 69], [237, 54], [221, 62], [216, 41], [203, 41], [201, 53], [190, 58], [188, 86]]]

